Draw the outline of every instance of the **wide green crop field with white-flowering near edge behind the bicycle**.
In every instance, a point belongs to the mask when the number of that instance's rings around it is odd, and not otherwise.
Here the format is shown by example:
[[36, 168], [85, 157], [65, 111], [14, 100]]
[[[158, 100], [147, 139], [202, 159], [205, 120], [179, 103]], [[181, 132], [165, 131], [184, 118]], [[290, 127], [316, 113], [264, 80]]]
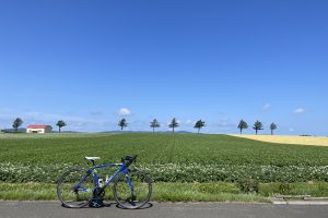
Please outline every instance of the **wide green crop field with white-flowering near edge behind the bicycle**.
[[328, 181], [328, 147], [204, 134], [0, 134], [0, 181], [56, 182], [85, 156], [119, 162], [138, 154], [156, 182]]

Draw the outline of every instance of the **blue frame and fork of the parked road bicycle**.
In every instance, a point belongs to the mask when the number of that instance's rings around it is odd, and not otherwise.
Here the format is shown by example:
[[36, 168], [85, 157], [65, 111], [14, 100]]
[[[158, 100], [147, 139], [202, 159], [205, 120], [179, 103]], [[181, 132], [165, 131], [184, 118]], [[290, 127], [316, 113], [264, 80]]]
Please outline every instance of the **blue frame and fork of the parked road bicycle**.
[[[122, 164], [105, 164], [105, 165], [101, 165], [101, 166], [93, 166], [92, 168], [90, 168], [86, 171], [86, 174], [82, 178], [82, 180], [79, 182], [79, 184], [75, 185], [75, 190], [79, 190], [81, 187], [81, 184], [86, 180], [86, 178], [93, 173], [93, 179], [94, 179], [94, 183], [96, 187], [101, 187], [99, 184], [99, 179], [98, 179], [98, 174], [96, 172], [96, 169], [102, 169], [102, 168], [106, 168], [106, 167], [117, 167], [120, 166], [120, 168], [109, 178], [109, 180], [106, 182], [106, 184], [102, 187], [103, 191], [116, 179], [116, 177], [124, 172], [126, 174], [126, 180], [127, 183], [129, 184], [131, 191], [133, 192], [133, 185], [131, 183], [131, 180], [129, 179], [129, 177], [127, 177], [129, 174], [128, 168], [125, 164], [125, 161], [122, 161]], [[85, 190], [86, 191], [86, 190]]]

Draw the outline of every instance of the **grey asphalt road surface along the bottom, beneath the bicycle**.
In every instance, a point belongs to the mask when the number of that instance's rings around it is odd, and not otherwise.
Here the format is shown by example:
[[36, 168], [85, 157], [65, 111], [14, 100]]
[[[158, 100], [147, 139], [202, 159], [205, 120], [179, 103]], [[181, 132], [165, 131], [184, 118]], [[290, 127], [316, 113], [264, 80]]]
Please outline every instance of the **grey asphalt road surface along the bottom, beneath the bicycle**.
[[128, 210], [116, 204], [103, 208], [69, 209], [58, 202], [0, 202], [0, 218], [327, 218], [328, 206], [236, 203], [153, 203]]

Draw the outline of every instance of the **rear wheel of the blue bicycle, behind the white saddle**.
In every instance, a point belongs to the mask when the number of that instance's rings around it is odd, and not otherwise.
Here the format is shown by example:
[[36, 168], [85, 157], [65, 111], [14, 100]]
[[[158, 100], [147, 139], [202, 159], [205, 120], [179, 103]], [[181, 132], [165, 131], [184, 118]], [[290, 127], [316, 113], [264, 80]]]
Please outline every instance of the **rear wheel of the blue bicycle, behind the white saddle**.
[[71, 169], [58, 180], [57, 196], [63, 206], [80, 208], [89, 204], [93, 196], [94, 181], [92, 174], [82, 181], [87, 174], [86, 171], [83, 168]]

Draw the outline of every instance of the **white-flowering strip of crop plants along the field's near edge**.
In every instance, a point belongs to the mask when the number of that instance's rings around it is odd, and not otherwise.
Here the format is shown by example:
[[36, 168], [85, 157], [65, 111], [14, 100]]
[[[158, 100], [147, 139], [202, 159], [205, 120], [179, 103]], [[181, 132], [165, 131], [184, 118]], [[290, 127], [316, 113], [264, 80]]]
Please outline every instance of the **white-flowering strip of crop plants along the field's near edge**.
[[[72, 164], [11, 164], [0, 165], [0, 181], [55, 183]], [[84, 165], [85, 166], [85, 165]], [[254, 179], [258, 182], [328, 181], [328, 166], [258, 166], [200, 164], [139, 164], [155, 182], [237, 182]], [[103, 177], [114, 170], [98, 170]]]

